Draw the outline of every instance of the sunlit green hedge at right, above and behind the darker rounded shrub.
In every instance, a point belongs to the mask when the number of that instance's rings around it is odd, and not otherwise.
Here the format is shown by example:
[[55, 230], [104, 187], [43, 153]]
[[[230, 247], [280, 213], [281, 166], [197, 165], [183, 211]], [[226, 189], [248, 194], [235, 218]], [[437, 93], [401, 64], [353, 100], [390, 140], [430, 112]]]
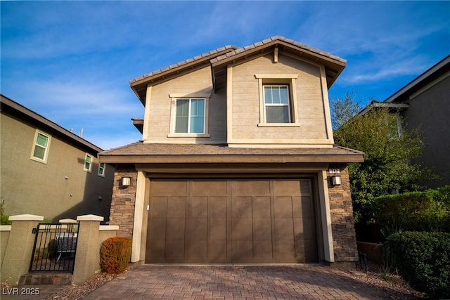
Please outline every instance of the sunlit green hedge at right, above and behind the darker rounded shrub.
[[450, 232], [450, 186], [377, 197], [373, 216], [378, 228]]

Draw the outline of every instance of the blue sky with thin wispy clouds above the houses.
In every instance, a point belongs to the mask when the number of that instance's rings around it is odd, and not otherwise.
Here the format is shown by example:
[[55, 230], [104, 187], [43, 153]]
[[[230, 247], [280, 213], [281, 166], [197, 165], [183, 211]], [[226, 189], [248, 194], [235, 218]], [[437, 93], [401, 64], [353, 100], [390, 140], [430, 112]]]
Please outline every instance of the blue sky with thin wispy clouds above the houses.
[[103, 149], [139, 141], [129, 80], [274, 35], [347, 60], [329, 91], [385, 100], [450, 54], [450, 1], [0, 1], [1, 93]]

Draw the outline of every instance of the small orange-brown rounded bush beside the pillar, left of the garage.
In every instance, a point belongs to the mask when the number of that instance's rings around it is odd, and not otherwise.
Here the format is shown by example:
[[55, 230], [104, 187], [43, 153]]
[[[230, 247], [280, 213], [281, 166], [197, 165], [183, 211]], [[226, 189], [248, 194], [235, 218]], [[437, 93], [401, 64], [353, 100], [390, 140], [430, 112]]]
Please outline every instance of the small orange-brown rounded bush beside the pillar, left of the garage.
[[119, 274], [131, 258], [131, 238], [110, 237], [100, 247], [100, 266], [105, 273]]

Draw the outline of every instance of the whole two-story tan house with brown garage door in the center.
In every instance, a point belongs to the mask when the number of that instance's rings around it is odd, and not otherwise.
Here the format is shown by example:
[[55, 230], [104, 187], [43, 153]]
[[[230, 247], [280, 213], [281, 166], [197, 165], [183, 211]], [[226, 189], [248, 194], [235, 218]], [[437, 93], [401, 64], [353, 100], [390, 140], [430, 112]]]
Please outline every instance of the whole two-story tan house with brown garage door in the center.
[[345, 64], [271, 37], [131, 80], [143, 141], [99, 154], [131, 260], [354, 265], [347, 163], [364, 153], [333, 145], [328, 105]]

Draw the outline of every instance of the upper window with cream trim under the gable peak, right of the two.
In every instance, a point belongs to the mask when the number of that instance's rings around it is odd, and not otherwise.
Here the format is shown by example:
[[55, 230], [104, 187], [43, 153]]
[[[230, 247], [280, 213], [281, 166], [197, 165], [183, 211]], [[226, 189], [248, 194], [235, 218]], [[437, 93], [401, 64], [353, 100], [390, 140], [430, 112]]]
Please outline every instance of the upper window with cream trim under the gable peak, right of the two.
[[297, 74], [255, 74], [259, 84], [258, 126], [300, 126]]

